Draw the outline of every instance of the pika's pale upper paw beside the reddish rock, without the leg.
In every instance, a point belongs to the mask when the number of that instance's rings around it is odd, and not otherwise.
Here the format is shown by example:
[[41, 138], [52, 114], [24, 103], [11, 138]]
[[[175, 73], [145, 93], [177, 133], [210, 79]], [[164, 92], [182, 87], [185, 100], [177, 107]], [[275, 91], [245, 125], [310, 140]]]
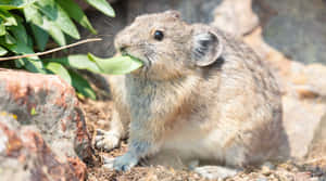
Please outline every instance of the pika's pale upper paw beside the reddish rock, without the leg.
[[101, 129], [98, 129], [95, 141], [95, 146], [98, 150], [104, 150], [109, 152], [118, 146], [120, 137], [112, 131], [103, 131]]

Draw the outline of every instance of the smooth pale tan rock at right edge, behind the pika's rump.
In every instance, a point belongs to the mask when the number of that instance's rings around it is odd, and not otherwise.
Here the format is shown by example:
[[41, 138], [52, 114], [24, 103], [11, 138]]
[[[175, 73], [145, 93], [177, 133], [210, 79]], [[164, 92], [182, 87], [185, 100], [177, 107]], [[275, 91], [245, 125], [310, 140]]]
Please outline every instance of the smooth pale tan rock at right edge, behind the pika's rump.
[[284, 125], [289, 138], [291, 156], [302, 158], [308, 155], [326, 104], [317, 101], [283, 96]]

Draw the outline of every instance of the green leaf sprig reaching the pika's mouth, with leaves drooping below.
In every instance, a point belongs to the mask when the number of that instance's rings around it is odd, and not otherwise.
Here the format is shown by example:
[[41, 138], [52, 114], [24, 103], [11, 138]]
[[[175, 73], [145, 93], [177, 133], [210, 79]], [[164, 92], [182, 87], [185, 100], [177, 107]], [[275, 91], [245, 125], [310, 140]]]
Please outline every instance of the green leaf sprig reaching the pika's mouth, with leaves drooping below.
[[[45, 62], [48, 62], [46, 64], [48, 69], [60, 75], [64, 80], [72, 83], [78, 92], [91, 99], [95, 99], [96, 94], [89, 83], [75, 70], [66, 70], [64, 67], [87, 69], [92, 73], [122, 75], [128, 74], [142, 66], [142, 62], [136, 57], [125, 55], [100, 59], [90, 53], [88, 53], [88, 55], [75, 54], [68, 55], [67, 57], [49, 59], [45, 60]], [[49, 64], [51, 65], [49, 66]]]

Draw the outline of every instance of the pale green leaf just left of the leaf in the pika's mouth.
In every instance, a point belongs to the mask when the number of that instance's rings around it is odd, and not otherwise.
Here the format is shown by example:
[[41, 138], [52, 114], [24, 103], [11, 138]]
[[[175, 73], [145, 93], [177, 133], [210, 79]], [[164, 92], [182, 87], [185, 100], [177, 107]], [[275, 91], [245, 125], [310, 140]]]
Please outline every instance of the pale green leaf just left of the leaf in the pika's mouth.
[[70, 66], [77, 69], [87, 69], [93, 73], [101, 73], [101, 69], [98, 67], [98, 65], [95, 62], [90, 61], [88, 56], [84, 54], [68, 55], [67, 57], [49, 59], [45, 61], [58, 62], [65, 66]]

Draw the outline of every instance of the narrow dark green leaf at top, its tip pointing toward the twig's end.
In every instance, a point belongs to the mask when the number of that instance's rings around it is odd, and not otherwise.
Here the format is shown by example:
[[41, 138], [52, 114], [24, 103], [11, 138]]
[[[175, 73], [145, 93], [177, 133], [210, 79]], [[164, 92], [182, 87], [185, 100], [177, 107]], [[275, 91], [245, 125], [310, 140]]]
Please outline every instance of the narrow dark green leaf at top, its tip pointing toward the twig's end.
[[96, 29], [91, 26], [87, 16], [76, 2], [73, 0], [57, 0], [57, 2], [65, 10], [68, 16], [78, 22], [83, 27], [87, 28], [92, 34], [97, 34]]

